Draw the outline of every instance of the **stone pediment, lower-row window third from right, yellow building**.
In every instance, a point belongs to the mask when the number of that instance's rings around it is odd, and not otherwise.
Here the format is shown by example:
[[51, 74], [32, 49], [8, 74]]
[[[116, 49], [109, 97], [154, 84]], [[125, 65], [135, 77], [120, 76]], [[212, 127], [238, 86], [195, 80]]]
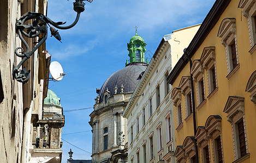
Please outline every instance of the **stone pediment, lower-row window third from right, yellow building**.
[[208, 135], [212, 135], [216, 130], [221, 131], [221, 120], [222, 118], [219, 115], [211, 115], [207, 118], [205, 129]]

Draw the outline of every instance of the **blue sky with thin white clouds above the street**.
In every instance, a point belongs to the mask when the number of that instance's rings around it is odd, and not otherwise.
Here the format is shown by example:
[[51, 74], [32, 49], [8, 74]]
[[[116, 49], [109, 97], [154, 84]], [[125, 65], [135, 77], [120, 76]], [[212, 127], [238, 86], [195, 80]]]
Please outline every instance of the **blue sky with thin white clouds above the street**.
[[[55, 22], [72, 23], [76, 17], [73, 2], [49, 0], [47, 16]], [[46, 40], [51, 61], [58, 61], [67, 73], [61, 82], [49, 82], [49, 89], [61, 98], [66, 118], [62, 138], [91, 153], [92, 133], [88, 122], [97, 96], [96, 88], [112, 73], [124, 68], [128, 59], [127, 43], [135, 34], [135, 26], [147, 43], [145, 58], [150, 60], [164, 35], [203, 22], [214, 2], [85, 1], [86, 9], [78, 24], [68, 30], [58, 30], [63, 43], [50, 36]], [[82, 108], [89, 109], [65, 112]], [[76, 133], [80, 131], [83, 132]], [[74, 152], [73, 159], [91, 159], [91, 154], [69, 143], [63, 141], [62, 162], [67, 162], [70, 148]]]

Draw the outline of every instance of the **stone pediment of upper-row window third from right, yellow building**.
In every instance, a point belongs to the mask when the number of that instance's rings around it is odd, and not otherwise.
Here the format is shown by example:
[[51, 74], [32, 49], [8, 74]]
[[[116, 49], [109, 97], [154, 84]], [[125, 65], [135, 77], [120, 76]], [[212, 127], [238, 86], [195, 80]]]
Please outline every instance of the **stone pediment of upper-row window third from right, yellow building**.
[[210, 69], [211, 63], [215, 61], [215, 46], [205, 47], [200, 60], [204, 68]]

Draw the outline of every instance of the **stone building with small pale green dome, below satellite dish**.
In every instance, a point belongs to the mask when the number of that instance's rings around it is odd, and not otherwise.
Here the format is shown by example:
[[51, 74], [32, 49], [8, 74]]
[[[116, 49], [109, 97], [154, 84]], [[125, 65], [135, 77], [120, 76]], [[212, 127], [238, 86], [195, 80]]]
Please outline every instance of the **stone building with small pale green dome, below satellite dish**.
[[61, 134], [65, 118], [60, 98], [50, 89], [47, 90], [43, 108], [43, 119], [33, 127], [33, 149], [29, 162], [61, 163]]

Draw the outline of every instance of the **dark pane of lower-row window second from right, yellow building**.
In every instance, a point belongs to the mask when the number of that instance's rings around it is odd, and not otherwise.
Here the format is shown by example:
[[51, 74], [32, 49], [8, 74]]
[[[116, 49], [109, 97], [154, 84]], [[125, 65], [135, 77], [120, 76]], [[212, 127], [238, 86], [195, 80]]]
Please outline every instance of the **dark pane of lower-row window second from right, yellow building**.
[[245, 143], [245, 129], [243, 128], [243, 121], [237, 123], [238, 135], [239, 135], [239, 146], [241, 157], [246, 155], [246, 143]]

